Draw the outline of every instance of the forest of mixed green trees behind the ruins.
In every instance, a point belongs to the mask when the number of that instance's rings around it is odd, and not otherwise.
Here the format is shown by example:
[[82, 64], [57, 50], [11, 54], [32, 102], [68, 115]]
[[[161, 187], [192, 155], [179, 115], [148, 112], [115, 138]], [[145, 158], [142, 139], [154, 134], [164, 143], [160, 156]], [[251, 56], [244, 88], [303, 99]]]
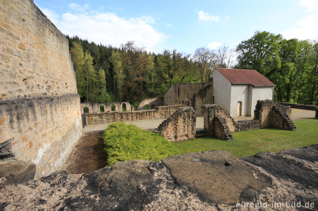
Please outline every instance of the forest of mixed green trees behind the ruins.
[[[256, 31], [236, 49], [197, 48], [193, 54], [165, 49], [147, 52], [133, 41], [119, 48], [69, 37], [81, 102], [161, 97], [173, 84], [208, 81], [215, 67], [254, 69], [275, 85], [274, 100], [318, 105], [318, 40], [284, 39]], [[236, 56], [236, 61], [233, 58]]]

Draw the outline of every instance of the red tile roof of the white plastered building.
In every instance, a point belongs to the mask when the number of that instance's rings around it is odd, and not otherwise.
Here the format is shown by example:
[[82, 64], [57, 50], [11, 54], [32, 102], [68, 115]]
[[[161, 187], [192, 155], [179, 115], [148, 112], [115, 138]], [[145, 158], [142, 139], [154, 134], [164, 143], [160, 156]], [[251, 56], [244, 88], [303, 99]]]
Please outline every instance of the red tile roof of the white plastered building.
[[251, 84], [252, 86], [275, 86], [256, 70], [215, 68], [232, 84]]

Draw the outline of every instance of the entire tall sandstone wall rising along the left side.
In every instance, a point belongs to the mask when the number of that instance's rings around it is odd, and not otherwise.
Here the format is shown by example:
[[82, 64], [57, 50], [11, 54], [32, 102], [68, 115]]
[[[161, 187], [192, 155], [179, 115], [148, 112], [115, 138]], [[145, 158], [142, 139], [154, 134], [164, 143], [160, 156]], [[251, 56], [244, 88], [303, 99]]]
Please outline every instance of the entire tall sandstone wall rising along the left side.
[[33, 1], [2, 0], [0, 48], [0, 144], [48, 175], [82, 134], [68, 41]]

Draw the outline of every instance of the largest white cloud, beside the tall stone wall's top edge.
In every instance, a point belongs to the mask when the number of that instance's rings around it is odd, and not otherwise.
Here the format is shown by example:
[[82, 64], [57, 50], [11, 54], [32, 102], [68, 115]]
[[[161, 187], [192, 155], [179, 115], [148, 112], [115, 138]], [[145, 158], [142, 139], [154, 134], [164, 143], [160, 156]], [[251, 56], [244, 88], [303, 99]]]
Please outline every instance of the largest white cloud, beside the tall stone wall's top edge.
[[63, 34], [78, 35], [82, 39], [104, 45], [119, 47], [121, 43], [133, 40], [148, 51], [156, 51], [161, 49], [158, 45], [169, 37], [152, 26], [155, 20], [151, 16], [122, 18], [109, 12], [86, 12], [89, 5], [75, 3], [69, 4], [69, 8], [70, 11], [62, 15], [51, 10], [41, 10]]

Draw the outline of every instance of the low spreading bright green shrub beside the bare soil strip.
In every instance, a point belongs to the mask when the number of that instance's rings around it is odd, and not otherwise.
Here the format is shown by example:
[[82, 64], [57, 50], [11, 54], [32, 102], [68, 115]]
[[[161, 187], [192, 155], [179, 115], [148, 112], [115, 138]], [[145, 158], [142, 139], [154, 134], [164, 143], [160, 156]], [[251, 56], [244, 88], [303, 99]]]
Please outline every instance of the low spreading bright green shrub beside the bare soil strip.
[[108, 125], [101, 137], [104, 139], [109, 166], [117, 161], [134, 159], [160, 161], [179, 154], [175, 146], [160, 134], [124, 122]]

